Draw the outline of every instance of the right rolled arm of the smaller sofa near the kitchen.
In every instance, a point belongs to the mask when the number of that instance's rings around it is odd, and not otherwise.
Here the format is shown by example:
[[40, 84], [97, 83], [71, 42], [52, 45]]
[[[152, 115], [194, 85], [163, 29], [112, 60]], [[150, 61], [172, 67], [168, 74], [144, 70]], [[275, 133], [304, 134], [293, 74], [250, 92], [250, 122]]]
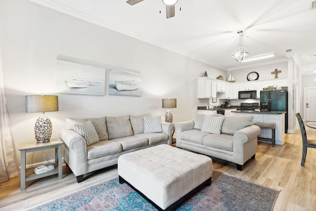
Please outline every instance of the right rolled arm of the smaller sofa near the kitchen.
[[257, 136], [260, 127], [251, 125], [234, 133], [233, 162], [243, 165], [257, 152]]

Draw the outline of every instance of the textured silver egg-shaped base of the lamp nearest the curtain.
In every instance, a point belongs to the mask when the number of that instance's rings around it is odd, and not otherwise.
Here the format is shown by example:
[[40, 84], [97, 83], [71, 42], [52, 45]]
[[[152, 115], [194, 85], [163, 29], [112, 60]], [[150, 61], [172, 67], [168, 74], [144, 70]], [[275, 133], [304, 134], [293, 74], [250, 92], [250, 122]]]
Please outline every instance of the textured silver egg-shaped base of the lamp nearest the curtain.
[[52, 125], [50, 119], [45, 115], [40, 115], [35, 123], [35, 138], [38, 143], [48, 142], [52, 133]]

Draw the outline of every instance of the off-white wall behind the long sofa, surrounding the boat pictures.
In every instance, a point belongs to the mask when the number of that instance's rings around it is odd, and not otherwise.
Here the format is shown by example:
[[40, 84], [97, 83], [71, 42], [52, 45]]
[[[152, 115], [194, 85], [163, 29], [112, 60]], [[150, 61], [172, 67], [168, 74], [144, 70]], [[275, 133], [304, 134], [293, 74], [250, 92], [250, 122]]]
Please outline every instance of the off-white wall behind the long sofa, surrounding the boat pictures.
[[[57, 94], [59, 111], [46, 113], [53, 124], [52, 138], [59, 137], [65, 118], [161, 115], [162, 98], [177, 98], [171, 109], [174, 122], [190, 120], [197, 106], [197, 77], [204, 71], [216, 78], [226, 72], [152, 44], [118, 34], [27, 0], [0, 1], [0, 49], [4, 93], [16, 149], [21, 142], [35, 141], [38, 113], [25, 113], [25, 95]], [[94, 61], [140, 71], [141, 97], [59, 94], [55, 92], [56, 58], [66, 55], [78, 61]], [[106, 84], [108, 70], [105, 69]], [[17, 150], [18, 156], [20, 156]], [[44, 151], [52, 159], [53, 151]], [[33, 158], [32, 158], [33, 157]], [[20, 159], [20, 158], [19, 158]], [[41, 152], [27, 156], [27, 164], [44, 161]]]

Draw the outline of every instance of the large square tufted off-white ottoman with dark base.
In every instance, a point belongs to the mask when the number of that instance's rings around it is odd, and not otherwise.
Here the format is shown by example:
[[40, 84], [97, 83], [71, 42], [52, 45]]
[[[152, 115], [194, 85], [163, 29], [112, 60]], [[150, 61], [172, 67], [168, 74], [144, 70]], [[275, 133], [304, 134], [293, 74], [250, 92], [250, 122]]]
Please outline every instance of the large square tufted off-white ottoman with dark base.
[[121, 155], [118, 176], [158, 210], [171, 210], [211, 184], [212, 159], [161, 144]]

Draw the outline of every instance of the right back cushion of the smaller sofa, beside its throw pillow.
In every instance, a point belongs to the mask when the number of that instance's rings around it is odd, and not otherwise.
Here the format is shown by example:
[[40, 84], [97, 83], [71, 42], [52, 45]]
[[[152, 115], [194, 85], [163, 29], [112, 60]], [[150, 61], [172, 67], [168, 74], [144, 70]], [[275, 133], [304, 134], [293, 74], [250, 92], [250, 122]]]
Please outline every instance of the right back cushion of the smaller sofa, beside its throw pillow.
[[222, 133], [234, 135], [239, 129], [252, 125], [253, 116], [229, 116], [225, 117], [222, 125]]

